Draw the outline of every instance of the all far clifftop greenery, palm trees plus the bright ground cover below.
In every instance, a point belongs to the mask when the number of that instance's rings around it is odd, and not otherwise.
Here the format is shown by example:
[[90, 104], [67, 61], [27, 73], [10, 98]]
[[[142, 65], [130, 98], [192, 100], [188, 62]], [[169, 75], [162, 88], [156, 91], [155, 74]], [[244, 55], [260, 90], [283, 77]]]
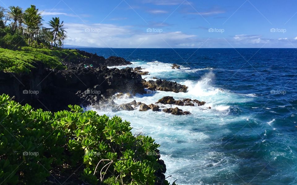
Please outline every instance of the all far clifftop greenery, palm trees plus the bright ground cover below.
[[[6, 13], [7, 12], [7, 13]], [[6, 22], [10, 22], [6, 25]], [[43, 27], [41, 12], [31, 5], [23, 11], [19, 6], [5, 10], [0, 6], [0, 70], [30, 72], [42, 62], [47, 68], [64, 69], [62, 61], [77, 61], [84, 57], [76, 50], [63, 50], [67, 38], [64, 22], [58, 17]]]

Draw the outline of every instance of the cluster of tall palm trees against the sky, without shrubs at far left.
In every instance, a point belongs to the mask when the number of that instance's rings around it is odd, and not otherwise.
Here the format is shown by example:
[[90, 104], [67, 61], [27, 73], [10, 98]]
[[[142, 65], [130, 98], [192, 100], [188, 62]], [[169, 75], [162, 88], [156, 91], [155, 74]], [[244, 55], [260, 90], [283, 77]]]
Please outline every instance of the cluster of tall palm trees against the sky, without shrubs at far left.
[[64, 21], [60, 21], [60, 18], [52, 18], [48, 22], [49, 28], [45, 28], [41, 12], [34, 5], [25, 11], [19, 6], [10, 6], [8, 16], [12, 31], [24, 35], [28, 39], [28, 45], [38, 46], [40, 43], [50, 48], [63, 47], [67, 35]]

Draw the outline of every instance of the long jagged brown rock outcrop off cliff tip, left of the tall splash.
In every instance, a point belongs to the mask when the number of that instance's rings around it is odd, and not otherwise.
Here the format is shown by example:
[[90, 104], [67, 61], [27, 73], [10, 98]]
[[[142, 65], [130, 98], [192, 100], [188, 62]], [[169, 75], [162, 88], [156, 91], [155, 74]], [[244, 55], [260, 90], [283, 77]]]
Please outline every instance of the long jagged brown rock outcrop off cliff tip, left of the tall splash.
[[177, 82], [158, 79], [154, 80], [142, 80], [144, 87], [149, 90], [158, 91], [172, 91], [172, 92], [187, 92], [187, 86], [178, 84]]

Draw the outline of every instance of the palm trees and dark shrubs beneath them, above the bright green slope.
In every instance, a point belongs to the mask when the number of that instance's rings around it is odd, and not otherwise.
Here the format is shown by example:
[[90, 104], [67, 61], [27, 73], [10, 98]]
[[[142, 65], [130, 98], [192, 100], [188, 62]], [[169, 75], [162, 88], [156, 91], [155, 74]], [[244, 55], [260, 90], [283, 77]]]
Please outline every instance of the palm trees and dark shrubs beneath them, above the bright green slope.
[[[7, 14], [5, 14], [7, 12]], [[9, 25], [6, 25], [7, 22]], [[41, 12], [35, 5], [23, 11], [19, 6], [5, 10], [0, 6], [0, 47], [16, 50], [23, 46], [58, 49], [67, 38], [64, 22], [55, 17], [43, 26]]]

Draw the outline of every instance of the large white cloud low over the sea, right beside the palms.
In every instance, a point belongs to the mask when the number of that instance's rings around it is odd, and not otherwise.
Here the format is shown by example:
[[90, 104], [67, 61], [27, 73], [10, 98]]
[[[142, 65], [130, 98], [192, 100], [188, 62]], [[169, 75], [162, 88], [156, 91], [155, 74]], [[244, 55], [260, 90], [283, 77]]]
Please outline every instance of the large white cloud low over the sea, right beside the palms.
[[176, 32], [135, 31], [132, 27], [112, 24], [65, 24], [68, 36], [65, 44], [93, 47], [170, 48], [195, 47], [196, 35]]

